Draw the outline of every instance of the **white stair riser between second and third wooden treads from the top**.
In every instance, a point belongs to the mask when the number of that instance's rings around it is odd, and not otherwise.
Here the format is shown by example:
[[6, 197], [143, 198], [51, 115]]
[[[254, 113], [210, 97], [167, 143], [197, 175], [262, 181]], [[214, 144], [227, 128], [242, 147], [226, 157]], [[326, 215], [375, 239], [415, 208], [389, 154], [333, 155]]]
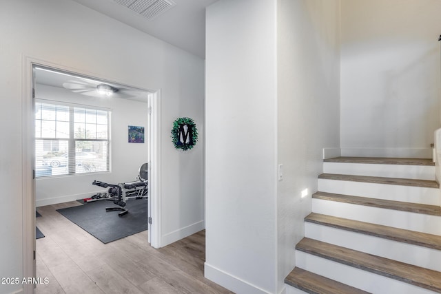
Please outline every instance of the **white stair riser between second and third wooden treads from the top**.
[[438, 206], [441, 202], [440, 189], [371, 182], [318, 179], [318, 191]]

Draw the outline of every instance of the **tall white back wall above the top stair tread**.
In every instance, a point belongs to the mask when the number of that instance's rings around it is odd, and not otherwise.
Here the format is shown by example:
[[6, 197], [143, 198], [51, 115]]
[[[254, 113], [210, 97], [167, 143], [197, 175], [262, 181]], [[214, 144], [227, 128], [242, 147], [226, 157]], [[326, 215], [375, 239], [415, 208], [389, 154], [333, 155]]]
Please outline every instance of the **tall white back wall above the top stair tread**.
[[431, 156], [440, 126], [440, 11], [439, 0], [342, 0], [344, 155]]

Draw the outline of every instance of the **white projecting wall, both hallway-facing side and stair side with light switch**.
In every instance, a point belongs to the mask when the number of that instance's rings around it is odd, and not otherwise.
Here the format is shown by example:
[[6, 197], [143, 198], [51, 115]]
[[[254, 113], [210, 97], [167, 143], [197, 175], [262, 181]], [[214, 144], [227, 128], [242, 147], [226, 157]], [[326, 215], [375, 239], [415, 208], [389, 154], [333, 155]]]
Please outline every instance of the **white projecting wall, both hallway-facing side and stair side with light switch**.
[[340, 147], [339, 3], [207, 10], [205, 275], [237, 293], [283, 291], [322, 149]]

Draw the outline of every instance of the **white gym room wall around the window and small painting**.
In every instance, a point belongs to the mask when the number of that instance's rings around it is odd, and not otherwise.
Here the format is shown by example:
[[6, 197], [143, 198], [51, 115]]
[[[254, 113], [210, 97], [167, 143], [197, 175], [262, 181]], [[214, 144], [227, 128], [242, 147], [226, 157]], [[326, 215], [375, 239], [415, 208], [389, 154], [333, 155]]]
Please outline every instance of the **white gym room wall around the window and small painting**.
[[[110, 109], [110, 150], [111, 171], [97, 174], [79, 174], [76, 176], [37, 178], [35, 202], [37, 207], [88, 198], [97, 191], [106, 191], [92, 185], [94, 180], [110, 182], [130, 182], [136, 180], [139, 167], [148, 161], [147, 140], [145, 143], [128, 143], [127, 126], [136, 125], [148, 129], [147, 92], [143, 94], [145, 102], [131, 101], [122, 98], [97, 98], [75, 94], [70, 90], [48, 85], [36, 85], [36, 98], [52, 101], [63, 101], [88, 106]], [[147, 133], [145, 138], [147, 139]]]

